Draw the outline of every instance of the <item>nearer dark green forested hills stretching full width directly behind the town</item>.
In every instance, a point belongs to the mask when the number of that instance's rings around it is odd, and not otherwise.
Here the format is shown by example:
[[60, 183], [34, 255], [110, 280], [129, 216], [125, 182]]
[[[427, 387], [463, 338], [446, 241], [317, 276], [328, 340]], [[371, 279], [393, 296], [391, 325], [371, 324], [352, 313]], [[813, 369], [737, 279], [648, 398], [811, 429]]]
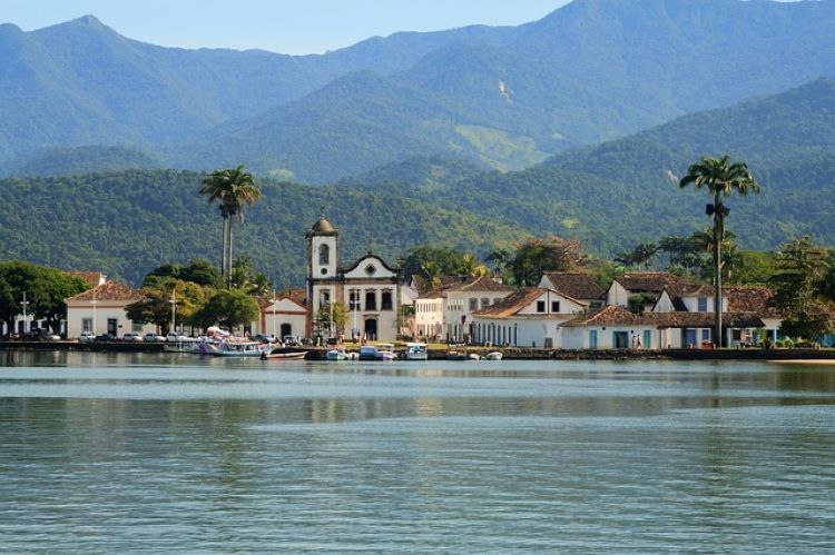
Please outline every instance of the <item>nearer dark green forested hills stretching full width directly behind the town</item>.
[[[330, 186], [263, 178], [264, 198], [236, 231], [236, 252], [278, 286], [302, 283], [304, 234], [324, 208], [341, 228], [345, 261], [367, 250], [393, 260], [424, 244], [484, 257], [551, 234], [612, 256], [708, 227], [708, 197], [680, 190], [675, 178], [698, 156], [728, 150], [744, 156], [763, 186], [758, 196], [728, 200], [727, 225], [740, 245], [767, 249], [803, 235], [835, 245], [835, 79], [818, 79], [521, 171], [415, 156]], [[0, 257], [92, 267], [135, 284], [164, 262], [214, 259], [220, 219], [197, 195], [202, 178], [122, 170], [2, 179]]]

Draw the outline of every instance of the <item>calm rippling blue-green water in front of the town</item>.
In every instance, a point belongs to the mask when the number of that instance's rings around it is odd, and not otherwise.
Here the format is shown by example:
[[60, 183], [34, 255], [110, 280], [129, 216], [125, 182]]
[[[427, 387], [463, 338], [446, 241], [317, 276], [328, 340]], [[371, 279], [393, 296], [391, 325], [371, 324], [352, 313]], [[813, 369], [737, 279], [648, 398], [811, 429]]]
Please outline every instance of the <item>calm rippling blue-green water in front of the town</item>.
[[0, 549], [835, 549], [835, 366], [0, 353]]

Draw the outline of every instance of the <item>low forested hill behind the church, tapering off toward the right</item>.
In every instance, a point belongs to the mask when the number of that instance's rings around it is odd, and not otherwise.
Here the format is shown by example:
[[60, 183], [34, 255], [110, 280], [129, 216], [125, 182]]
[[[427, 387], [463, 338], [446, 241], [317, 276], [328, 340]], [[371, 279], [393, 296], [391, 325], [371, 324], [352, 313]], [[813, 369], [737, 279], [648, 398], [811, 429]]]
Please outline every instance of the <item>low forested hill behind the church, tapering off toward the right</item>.
[[[219, 258], [220, 218], [197, 190], [203, 176], [173, 170], [0, 180], [0, 259], [102, 270], [137, 284], [167, 261]], [[236, 230], [249, 254], [283, 287], [304, 280], [304, 234], [321, 207], [340, 228], [343, 260], [373, 250], [393, 260], [431, 242], [487, 252], [524, 232], [472, 212], [383, 192], [311, 188], [263, 180], [264, 197]]]

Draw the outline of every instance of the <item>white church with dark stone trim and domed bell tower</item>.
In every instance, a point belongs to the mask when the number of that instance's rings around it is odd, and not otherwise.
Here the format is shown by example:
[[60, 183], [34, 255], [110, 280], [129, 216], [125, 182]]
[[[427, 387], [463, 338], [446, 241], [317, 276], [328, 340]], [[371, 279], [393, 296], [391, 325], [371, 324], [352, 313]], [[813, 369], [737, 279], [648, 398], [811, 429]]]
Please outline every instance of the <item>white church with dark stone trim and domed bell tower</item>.
[[[340, 232], [324, 217], [305, 235], [307, 240], [308, 337], [334, 336], [331, 326], [318, 329], [320, 313], [338, 303], [345, 307], [344, 335], [369, 340], [393, 341], [400, 328], [401, 275], [379, 256], [369, 252], [355, 262], [340, 266]], [[330, 316], [325, 318], [331, 320]]]

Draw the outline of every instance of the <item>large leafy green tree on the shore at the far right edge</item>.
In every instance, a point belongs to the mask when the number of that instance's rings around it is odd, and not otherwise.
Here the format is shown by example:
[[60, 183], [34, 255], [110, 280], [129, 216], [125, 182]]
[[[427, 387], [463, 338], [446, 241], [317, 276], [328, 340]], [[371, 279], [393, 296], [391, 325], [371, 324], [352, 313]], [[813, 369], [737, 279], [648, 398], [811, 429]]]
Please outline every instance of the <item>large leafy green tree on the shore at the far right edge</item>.
[[790, 337], [818, 338], [833, 331], [835, 304], [825, 290], [832, 271], [831, 252], [804, 237], [780, 246], [777, 272], [769, 286], [769, 304], [783, 316], [780, 333]]

